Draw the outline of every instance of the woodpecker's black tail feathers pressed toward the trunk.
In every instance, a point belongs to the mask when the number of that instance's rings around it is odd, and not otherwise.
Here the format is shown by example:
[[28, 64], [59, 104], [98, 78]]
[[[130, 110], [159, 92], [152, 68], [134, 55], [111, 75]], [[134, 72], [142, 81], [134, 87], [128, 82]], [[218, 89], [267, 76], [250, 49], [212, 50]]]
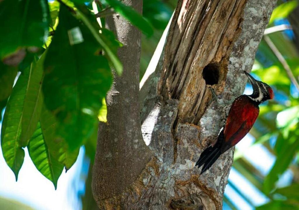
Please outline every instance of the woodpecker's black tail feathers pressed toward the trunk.
[[198, 168], [204, 165], [202, 167], [202, 171], [200, 174], [208, 170], [211, 167], [211, 165], [213, 165], [213, 163], [215, 163], [218, 157], [222, 154], [221, 152], [222, 141], [223, 141], [223, 129], [219, 133], [216, 144], [214, 146], [209, 146], [202, 152], [202, 154], [200, 154], [200, 157], [195, 164], [195, 166], [197, 166]]

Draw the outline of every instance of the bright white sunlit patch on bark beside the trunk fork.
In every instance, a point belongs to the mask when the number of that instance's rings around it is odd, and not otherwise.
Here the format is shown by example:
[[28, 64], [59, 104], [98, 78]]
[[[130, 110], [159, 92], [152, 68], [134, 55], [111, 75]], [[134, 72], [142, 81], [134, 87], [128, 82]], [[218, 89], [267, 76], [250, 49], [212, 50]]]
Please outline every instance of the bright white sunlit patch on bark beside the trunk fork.
[[157, 130], [155, 125], [157, 123], [159, 113], [160, 106], [156, 105], [141, 125], [142, 137], [147, 146], [150, 144], [152, 139], [152, 132]]

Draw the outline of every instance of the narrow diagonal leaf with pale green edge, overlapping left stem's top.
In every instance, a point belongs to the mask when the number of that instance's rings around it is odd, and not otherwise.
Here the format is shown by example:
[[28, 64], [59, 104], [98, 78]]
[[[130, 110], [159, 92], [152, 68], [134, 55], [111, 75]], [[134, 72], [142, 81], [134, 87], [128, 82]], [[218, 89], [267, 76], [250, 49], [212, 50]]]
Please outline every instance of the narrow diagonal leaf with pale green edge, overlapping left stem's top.
[[102, 33], [99, 33], [99, 26], [96, 23], [94, 15], [90, 14], [90, 11], [82, 5], [76, 5], [77, 16], [88, 27], [89, 31], [94, 36], [94, 39], [103, 47], [107, 56], [111, 60], [116, 72], [120, 75], [123, 72], [123, 65], [116, 56], [116, 49], [120, 46], [119, 42], [115, 42], [112, 33], [106, 29], [101, 29]]

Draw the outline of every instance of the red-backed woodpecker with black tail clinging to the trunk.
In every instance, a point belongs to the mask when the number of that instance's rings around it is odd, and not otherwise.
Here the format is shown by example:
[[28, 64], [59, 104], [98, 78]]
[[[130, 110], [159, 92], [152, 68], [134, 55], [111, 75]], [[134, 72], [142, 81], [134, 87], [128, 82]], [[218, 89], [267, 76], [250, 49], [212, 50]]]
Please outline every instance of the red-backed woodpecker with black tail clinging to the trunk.
[[244, 73], [252, 85], [253, 93], [251, 95], [241, 95], [231, 104], [216, 142], [202, 152], [195, 164], [198, 168], [203, 165], [200, 174], [208, 170], [221, 154], [245, 137], [259, 115], [258, 105], [274, 97], [273, 90], [269, 85], [254, 79], [246, 71]]

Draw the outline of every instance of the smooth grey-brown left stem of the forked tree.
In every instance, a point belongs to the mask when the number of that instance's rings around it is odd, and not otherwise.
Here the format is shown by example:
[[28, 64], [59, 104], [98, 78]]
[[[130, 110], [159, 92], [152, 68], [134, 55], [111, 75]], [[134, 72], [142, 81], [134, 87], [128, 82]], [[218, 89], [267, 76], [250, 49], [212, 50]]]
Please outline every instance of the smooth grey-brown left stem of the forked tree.
[[[126, 0], [141, 13], [140, 0]], [[93, 194], [96, 199], [121, 193], [138, 177], [151, 157], [141, 135], [139, 114], [139, 65], [141, 33], [118, 14], [106, 19], [107, 27], [123, 43], [118, 56], [123, 74], [114, 71], [107, 93], [107, 123], [100, 124], [93, 170]]]

